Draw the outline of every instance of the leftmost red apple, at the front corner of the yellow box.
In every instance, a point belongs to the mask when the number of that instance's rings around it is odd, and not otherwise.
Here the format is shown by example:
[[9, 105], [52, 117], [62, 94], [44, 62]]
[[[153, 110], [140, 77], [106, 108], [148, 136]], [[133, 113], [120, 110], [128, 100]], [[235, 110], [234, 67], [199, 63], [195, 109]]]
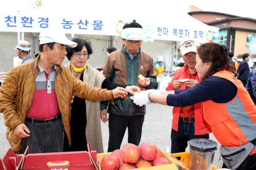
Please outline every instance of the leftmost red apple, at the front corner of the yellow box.
[[102, 170], [118, 170], [119, 167], [120, 161], [114, 155], [105, 155], [101, 160]]

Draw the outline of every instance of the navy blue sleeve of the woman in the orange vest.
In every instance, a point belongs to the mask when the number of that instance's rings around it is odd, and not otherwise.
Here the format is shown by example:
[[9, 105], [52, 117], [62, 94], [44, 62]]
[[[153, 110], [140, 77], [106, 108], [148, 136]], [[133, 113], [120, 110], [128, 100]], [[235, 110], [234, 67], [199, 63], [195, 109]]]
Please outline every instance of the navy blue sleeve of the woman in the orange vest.
[[232, 82], [218, 76], [211, 76], [187, 90], [175, 90], [167, 95], [167, 105], [175, 107], [190, 106], [195, 103], [212, 100], [215, 103], [230, 102], [237, 94]]

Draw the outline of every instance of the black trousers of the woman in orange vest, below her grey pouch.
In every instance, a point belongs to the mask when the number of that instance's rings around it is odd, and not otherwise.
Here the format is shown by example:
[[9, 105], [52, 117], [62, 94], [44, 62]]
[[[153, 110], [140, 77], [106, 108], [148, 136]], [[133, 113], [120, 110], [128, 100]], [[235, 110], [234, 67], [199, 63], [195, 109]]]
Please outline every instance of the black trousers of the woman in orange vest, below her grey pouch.
[[[229, 169], [224, 163], [222, 168]], [[245, 158], [244, 162], [236, 170], [254, 170], [256, 169], [256, 154], [250, 155]]]

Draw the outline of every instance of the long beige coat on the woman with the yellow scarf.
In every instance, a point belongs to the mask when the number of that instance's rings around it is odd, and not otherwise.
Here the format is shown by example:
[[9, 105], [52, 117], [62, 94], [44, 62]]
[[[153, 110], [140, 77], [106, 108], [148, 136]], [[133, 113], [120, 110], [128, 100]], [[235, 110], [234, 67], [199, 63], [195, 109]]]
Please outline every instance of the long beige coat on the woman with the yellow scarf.
[[[65, 65], [70, 70], [70, 62]], [[87, 64], [83, 72], [83, 82], [88, 86], [101, 88], [105, 77]], [[100, 101], [86, 100], [86, 140], [93, 150], [97, 153], [103, 153], [102, 135], [101, 135], [101, 120], [100, 120]]]

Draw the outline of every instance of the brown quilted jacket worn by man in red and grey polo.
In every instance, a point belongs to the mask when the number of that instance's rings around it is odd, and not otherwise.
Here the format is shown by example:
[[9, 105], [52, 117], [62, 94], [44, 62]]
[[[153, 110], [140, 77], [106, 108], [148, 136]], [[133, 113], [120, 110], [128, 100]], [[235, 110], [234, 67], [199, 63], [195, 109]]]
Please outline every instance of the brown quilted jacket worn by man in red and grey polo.
[[[0, 87], [0, 112], [4, 114], [4, 124], [7, 126], [6, 137], [15, 152], [22, 150], [22, 138], [14, 134], [14, 129], [20, 123], [25, 122], [30, 110], [35, 92], [35, 77], [39, 72], [39, 57], [12, 68]], [[62, 65], [57, 66], [54, 85], [64, 129], [71, 144], [70, 104], [72, 95], [88, 100], [108, 100], [113, 98], [113, 94], [112, 91], [86, 85]]]

